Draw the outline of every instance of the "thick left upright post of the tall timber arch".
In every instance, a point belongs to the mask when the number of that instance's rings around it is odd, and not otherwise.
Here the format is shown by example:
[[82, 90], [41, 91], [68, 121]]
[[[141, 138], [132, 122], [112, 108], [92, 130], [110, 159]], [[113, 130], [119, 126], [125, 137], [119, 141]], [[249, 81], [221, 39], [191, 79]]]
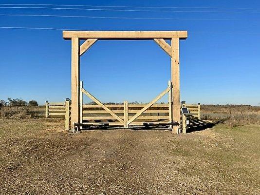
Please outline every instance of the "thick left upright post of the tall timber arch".
[[72, 38], [71, 56], [71, 125], [79, 123], [79, 39]]

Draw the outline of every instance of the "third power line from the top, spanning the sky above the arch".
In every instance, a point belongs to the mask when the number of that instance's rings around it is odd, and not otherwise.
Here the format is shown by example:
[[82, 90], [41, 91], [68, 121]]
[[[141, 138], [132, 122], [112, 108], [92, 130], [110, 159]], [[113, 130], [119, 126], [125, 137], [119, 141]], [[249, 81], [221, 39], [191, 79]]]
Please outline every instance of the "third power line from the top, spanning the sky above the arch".
[[128, 20], [223, 20], [223, 21], [260, 21], [247, 19], [194, 19], [194, 18], [135, 18], [135, 17], [101, 17], [101, 16], [66, 16], [66, 15], [40, 15], [40, 14], [0, 14], [0, 16], [18, 17], [58, 17], [58, 18], [89, 18], [89, 19], [128, 19]]

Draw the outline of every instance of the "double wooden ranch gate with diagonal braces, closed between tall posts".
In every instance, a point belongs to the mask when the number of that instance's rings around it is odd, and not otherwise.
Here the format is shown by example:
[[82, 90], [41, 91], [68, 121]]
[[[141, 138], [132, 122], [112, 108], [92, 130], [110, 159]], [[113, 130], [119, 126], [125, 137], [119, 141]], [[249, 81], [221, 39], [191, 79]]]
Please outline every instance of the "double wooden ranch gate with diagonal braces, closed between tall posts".
[[[148, 104], [103, 104], [83, 88], [80, 82], [80, 124], [82, 125], [173, 125], [171, 112], [171, 82], [168, 87]], [[83, 104], [83, 94], [91, 98], [94, 105]], [[168, 94], [168, 104], [156, 104], [164, 95]], [[82, 105], [82, 106], [81, 106]]]

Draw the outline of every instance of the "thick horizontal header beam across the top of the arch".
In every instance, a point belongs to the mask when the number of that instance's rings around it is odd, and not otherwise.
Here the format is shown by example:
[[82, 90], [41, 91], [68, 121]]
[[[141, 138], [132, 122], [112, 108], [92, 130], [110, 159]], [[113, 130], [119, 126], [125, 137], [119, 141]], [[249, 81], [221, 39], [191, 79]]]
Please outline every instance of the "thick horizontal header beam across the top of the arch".
[[186, 39], [187, 31], [63, 31], [63, 39]]

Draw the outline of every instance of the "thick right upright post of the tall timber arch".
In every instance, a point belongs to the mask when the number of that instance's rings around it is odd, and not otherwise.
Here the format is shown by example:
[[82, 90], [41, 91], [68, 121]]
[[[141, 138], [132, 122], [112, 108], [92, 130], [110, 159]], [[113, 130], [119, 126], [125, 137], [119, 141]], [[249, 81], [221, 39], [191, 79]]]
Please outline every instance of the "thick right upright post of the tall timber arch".
[[[172, 82], [172, 114], [173, 121], [181, 122], [180, 105], [180, 63], [179, 63], [179, 38], [171, 39], [171, 82]], [[179, 126], [172, 127], [172, 133], [178, 133]]]

